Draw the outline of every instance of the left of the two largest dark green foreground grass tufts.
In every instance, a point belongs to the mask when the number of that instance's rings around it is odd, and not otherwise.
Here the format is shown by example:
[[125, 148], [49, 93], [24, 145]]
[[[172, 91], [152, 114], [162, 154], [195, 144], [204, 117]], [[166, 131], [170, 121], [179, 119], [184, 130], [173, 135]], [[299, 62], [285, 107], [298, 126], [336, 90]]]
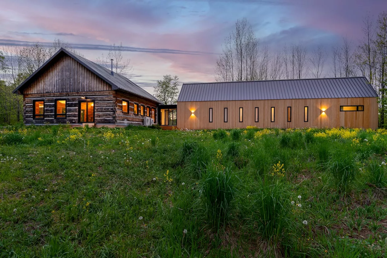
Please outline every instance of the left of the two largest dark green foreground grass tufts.
[[219, 232], [229, 218], [235, 196], [235, 179], [229, 168], [217, 171], [211, 167], [200, 190], [205, 204], [205, 215]]

